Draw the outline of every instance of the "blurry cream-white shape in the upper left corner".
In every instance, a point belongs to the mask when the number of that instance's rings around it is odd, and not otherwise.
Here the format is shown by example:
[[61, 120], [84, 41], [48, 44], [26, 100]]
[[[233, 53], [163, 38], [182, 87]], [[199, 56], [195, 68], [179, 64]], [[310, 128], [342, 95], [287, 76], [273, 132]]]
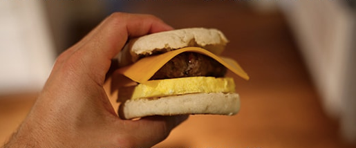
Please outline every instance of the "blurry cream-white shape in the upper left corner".
[[0, 94], [38, 91], [55, 60], [41, 1], [1, 1], [0, 22]]

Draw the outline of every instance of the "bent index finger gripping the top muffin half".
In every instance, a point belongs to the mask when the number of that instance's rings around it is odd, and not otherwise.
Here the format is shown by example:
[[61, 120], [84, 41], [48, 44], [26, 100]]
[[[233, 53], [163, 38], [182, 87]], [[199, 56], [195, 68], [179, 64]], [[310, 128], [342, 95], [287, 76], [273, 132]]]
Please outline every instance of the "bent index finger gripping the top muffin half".
[[104, 55], [108, 55], [111, 59], [119, 52], [117, 49], [124, 46], [129, 37], [140, 37], [171, 29], [173, 29], [171, 26], [153, 15], [116, 12], [106, 18], [98, 28], [95, 28], [93, 33], [88, 36], [90, 39], [86, 39], [88, 43], [86, 45], [107, 47], [102, 50], [102, 53], [105, 52]]

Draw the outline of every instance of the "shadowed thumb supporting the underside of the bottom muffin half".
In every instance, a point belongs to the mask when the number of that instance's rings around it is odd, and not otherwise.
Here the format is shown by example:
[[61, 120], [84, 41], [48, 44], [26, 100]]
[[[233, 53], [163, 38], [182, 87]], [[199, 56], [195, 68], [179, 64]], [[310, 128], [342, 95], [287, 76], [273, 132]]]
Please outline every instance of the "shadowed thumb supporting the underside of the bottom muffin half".
[[[125, 140], [127, 147], [152, 147], [165, 140], [172, 129], [187, 120], [189, 115], [151, 116], [130, 122], [127, 129], [131, 137]], [[122, 126], [122, 124], [121, 124]]]

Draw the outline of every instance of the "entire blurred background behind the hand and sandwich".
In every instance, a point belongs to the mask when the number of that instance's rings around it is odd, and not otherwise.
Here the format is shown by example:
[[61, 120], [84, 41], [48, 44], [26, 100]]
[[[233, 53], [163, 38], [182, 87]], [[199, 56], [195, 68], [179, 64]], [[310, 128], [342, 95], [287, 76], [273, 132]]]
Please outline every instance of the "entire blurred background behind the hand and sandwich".
[[[354, 1], [0, 1], [0, 145], [24, 120], [55, 57], [112, 12], [218, 28], [251, 79], [232, 73], [234, 116], [191, 115], [156, 147], [355, 147]], [[115, 97], [111, 97], [115, 100]]]

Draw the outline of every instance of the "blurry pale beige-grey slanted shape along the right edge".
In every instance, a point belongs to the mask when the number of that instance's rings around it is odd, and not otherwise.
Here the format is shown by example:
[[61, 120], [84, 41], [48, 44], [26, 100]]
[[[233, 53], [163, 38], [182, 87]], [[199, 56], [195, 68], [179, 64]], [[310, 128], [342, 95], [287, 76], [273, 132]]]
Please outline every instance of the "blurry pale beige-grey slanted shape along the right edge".
[[355, 60], [356, 14], [346, 2], [281, 1], [280, 6], [299, 41], [324, 109], [340, 120], [345, 140], [355, 142], [356, 89], [353, 82], [356, 66], [352, 60]]

